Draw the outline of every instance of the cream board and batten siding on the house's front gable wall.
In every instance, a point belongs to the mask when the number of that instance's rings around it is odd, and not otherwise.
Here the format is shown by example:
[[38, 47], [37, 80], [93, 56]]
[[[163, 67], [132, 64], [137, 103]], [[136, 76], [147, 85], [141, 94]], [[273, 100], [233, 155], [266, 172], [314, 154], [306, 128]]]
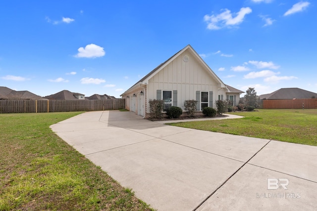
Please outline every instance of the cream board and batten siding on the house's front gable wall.
[[[188, 62], [183, 61], [184, 55], [189, 56]], [[196, 91], [213, 91], [214, 102], [218, 94], [225, 92], [218, 92], [218, 84], [208, 71], [185, 51], [149, 80], [148, 100], [157, 99], [157, 90], [177, 90], [177, 106], [184, 108], [185, 100], [196, 100]], [[215, 107], [214, 104], [209, 106]]]

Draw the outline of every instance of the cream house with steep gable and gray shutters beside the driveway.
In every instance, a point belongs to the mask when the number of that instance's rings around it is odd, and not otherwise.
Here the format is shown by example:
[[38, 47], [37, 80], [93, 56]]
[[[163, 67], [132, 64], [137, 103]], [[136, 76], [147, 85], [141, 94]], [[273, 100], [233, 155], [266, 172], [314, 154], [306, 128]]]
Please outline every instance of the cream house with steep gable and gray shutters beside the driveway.
[[149, 100], [162, 99], [164, 107], [184, 109], [185, 100], [197, 100], [197, 110], [215, 108], [215, 100], [237, 105], [243, 91], [224, 84], [198, 53], [187, 45], [121, 94], [126, 109], [147, 118]]

